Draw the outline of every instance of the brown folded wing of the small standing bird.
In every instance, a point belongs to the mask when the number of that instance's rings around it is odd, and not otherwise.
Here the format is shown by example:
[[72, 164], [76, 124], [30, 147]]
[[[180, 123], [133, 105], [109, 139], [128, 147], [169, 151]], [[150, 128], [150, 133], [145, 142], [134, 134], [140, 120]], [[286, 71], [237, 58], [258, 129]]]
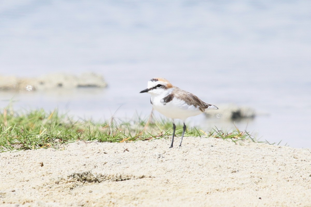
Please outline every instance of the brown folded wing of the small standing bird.
[[173, 93], [174, 93], [174, 97], [184, 100], [189, 105], [199, 107], [199, 109], [202, 112], [204, 112], [207, 107], [211, 106], [211, 104], [205, 103], [204, 101], [199, 99], [196, 95], [188, 91], [182, 90], [176, 86], [174, 86]]

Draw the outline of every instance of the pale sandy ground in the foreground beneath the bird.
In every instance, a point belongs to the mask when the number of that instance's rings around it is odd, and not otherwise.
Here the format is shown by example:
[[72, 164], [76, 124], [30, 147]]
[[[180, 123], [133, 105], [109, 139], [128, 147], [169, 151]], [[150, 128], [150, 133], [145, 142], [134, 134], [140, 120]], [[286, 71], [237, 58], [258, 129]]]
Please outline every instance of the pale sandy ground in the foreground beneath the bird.
[[198, 137], [169, 144], [0, 153], [0, 206], [311, 206], [310, 149]]

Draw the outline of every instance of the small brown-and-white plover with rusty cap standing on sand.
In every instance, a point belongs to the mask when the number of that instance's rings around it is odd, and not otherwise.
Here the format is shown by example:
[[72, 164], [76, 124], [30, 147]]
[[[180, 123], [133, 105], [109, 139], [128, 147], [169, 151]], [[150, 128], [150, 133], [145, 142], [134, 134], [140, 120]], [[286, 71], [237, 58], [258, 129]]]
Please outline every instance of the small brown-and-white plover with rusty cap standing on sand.
[[176, 130], [174, 119], [181, 119], [183, 121], [183, 133], [179, 144], [181, 146], [183, 135], [186, 131], [185, 120], [190, 116], [202, 114], [206, 110], [218, 109], [217, 106], [205, 103], [196, 95], [173, 86], [164, 78], [153, 78], [149, 80], [147, 88], [140, 93], [151, 94], [150, 103], [152, 107], [162, 115], [173, 120], [173, 136], [169, 148], [173, 147], [174, 142]]

